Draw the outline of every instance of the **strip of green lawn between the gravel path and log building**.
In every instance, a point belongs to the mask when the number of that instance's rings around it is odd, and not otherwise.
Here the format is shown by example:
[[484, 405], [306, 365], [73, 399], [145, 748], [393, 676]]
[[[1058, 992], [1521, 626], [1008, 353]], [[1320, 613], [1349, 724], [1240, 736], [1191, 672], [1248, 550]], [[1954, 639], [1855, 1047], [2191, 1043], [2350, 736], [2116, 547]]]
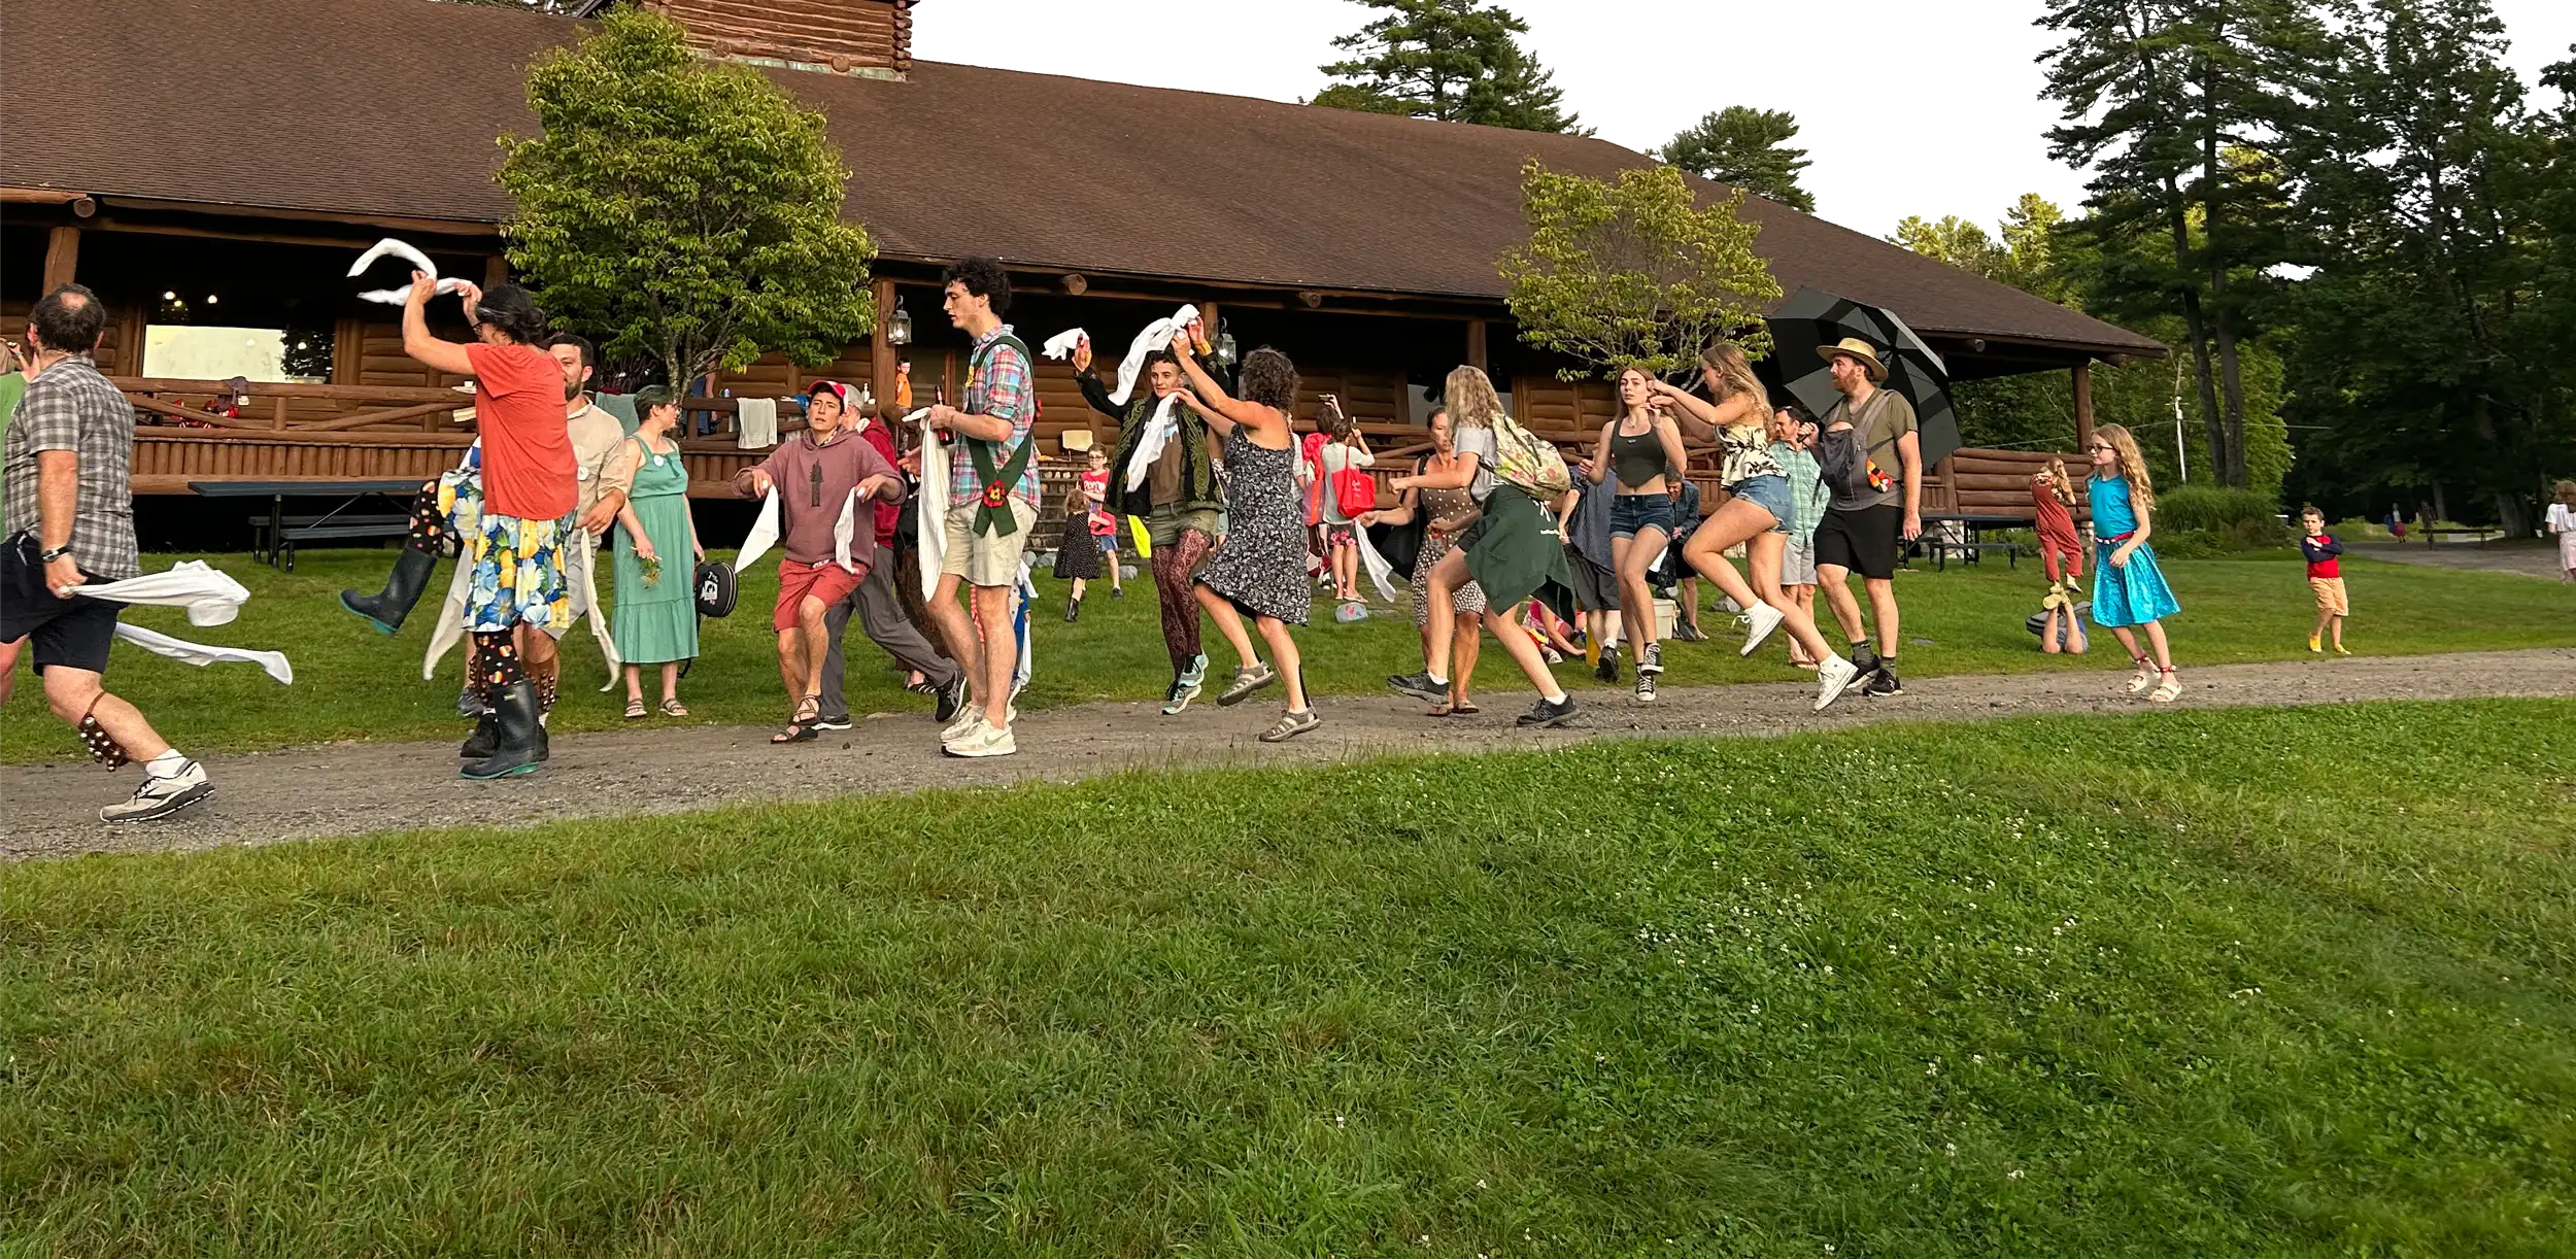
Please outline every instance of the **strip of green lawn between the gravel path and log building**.
[[[178, 556], [152, 556], [152, 566], [173, 559]], [[278, 690], [247, 664], [191, 669], [126, 646], [116, 649], [111, 685], [142, 703], [167, 739], [191, 752], [242, 752], [332, 739], [461, 736], [464, 726], [453, 716], [459, 657], [448, 654], [435, 682], [420, 680], [420, 654], [430, 641], [428, 615], [435, 613], [435, 605], [422, 600], [422, 615], [415, 615], [392, 641], [337, 605], [340, 587], [376, 590], [392, 551], [304, 551], [296, 556], [294, 574], [278, 574], [247, 556], [206, 559], [216, 559], [252, 590], [252, 602], [237, 623], [191, 631], [178, 610], [162, 608], [137, 610], [134, 620], [198, 641], [283, 649], [296, 664], [296, 687]], [[2295, 554], [2287, 559], [2172, 561], [2166, 569], [2184, 605], [2184, 615], [2172, 620], [2174, 651], [2184, 669], [2306, 654], [2313, 605]], [[2347, 561], [2347, 572], [2354, 605], [2349, 641], [2357, 651], [2416, 654], [2576, 644], [2576, 620], [2568, 618], [2576, 597], [2553, 582], [2365, 559]], [[446, 590], [446, 577], [448, 569], [440, 564], [430, 597]], [[734, 615], [703, 623], [703, 657], [680, 685], [696, 721], [786, 721], [786, 690], [778, 682], [778, 654], [768, 618], [778, 590], [775, 579], [775, 564], [760, 564], [742, 582], [742, 605]], [[2038, 608], [2040, 590], [2038, 566], [2020, 572], [2007, 572], [1999, 564], [1953, 566], [1950, 572], [1899, 577], [1909, 639], [1904, 649], [1906, 675], [2117, 669], [2120, 654], [2110, 636], [2099, 636], [2107, 654], [2097, 651], [2084, 659], [2050, 659], [2038, 651], [2038, 639], [2022, 631], [2022, 618]], [[1061, 582], [1041, 579], [1038, 592], [1038, 675], [1025, 705], [1051, 708], [1162, 695], [1172, 675], [1162, 654], [1149, 582], [1133, 582], [1126, 600], [1095, 592], [1074, 626], [1061, 620]], [[1765, 646], [1757, 659], [1741, 659], [1734, 651], [1731, 618], [1708, 615], [1703, 623], [1716, 641], [1672, 644], [1667, 685], [1808, 677], [1788, 667], [1785, 639]], [[1832, 636], [1832, 631], [1826, 633]], [[1206, 631], [1206, 641], [1216, 675], [1226, 677], [1234, 659], [1213, 626]], [[1376, 693], [1386, 675], [1422, 667], [1409, 602], [1394, 613], [1381, 610], [1358, 626], [1337, 626], [1329, 605], [1319, 605], [1316, 623], [1303, 631], [1301, 644], [1306, 677], [1324, 695]], [[927, 703], [902, 693], [902, 680], [866, 639], [853, 633], [848, 646], [853, 708], [863, 713], [912, 711]], [[623, 687], [611, 695], [592, 690], [605, 680], [605, 672], [590, 636], [567, 639], [564, 659], [567, 687], [554, 713], [554, 729], [618, 726], [626, 703]], [[1566, 685], [1597, 685], [1579, 662], [1564, 667], [1561, 677]], [[1499, 695], [1515, 695], [1525, 687], [1492, 644], [1479, 680]], [[647, 687], [652, 685], [647, 682]], [[0, 762], [75, 760], [80, 754], [75, 739], [41, 703], [33, 703], [31, 680], [21, 677], [21, 690], [23, 698], [0, 705]]]

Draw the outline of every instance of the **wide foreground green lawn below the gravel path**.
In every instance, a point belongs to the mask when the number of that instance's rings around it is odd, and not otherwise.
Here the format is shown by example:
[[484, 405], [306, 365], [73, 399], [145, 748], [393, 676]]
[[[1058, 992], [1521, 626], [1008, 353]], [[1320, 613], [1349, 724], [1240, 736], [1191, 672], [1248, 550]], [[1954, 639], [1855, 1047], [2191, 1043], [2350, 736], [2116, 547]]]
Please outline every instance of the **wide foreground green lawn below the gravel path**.
[[2571, 1254], [2568, 765], [2179, 711], [15, 865], [0, 1254]]

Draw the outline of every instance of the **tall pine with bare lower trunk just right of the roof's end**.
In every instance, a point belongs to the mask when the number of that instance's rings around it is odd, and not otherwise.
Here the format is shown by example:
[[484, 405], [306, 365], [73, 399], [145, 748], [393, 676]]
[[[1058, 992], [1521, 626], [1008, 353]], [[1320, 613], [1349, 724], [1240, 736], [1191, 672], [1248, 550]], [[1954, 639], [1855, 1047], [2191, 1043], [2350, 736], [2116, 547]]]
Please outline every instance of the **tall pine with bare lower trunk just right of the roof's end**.
[[[2050, 0], [2040, 95], [2061, 108], [2050, 160], [2089, 170], [2081, 229], [2112, 268], [2097, 296], [2177, 309], [2221, 484], [2246, 484], [2241, 345], [2251, 268], [2280, 260], [2275, 154], [2316, 93], [2324, 23], [2306, 0]], [[2161, 234], [2169, 263], [2133, 247]]]

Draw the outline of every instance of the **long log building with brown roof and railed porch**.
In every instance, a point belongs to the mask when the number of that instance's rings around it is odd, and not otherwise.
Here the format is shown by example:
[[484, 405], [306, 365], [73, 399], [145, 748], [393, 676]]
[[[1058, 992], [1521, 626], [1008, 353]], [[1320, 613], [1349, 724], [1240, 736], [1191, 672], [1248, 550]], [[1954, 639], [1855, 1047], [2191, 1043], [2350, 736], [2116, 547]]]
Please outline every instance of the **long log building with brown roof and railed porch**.
[[[1489, 368], [1533, 430], [1561, 440], [1610, 417], [1602, 384], [1517, 342], [1494, 257], [1525, 237], [1528, 160], [1587, 175], [1649, 162], [1587, 136], [1345, 113], [912, 59], [912, 0], [644, 0], [708, 57], [762, 67], [829, 118], [853, 170], [845, 214], [868, 227], [878, 330], [837, 363], [765, 360], [714, 381], [729, 396], [804, 381], [876, 386], [909, 363], [914, 394], [956, 396], [963, 337], [938, 270], [1010, 265], [1030, 340], [1082, 324], [1105, 355], [1195, 301], [1244, 350], [1278, 345], [1316, 394], [1388, 443], [1458, 363]], [[77, 278], [111, 306], [100, 366], [147, 412], [193, 425], [137, 435], [134, 489], [219, 479], [425, 476], [471, 440], [453, 378], [402, 355], [397, 312], [343, 273], [384, 234], [440, 273], [497, 281], [510, 214], [492, 173], [502, 134], [533, 134], [526, 70], [585, 26], [438, 0], [21, 0], [0, 100], [0, 327]], [[67, 90], [88, 82], [98, 90]], [[1708, 198], [1728, 196], [1703, 183]], [[1747, 201], [1785, 291], [1888, 306], [1960, 378], [2069, 371], [2079, 415], [2097, 358], [2161, 355], [2148, 337], [1989, 283], [1875, 237]], [[392, 268], [386, 268], [389, 273]], [[371, 275], [366, 286], [394, 283]], [[255, 384], [209, 417], [214, 381], [144, 353], [178, 306], [198, 324], [286, 330], [322, 384]], [[211, 306], [209, 306], [211, 304]], [[896, 345], [889, 317], [909, 317]], [[453, 330], [461, 335], [461, 330]], [[1108, 430], [1064, 363], [1041, 366], [1043, 433]], [[724, 494], [750, 453], [693, 438], [696, 492]], [[1963, 451], [1927, 512], [2027, 512], [2022, 456]]]

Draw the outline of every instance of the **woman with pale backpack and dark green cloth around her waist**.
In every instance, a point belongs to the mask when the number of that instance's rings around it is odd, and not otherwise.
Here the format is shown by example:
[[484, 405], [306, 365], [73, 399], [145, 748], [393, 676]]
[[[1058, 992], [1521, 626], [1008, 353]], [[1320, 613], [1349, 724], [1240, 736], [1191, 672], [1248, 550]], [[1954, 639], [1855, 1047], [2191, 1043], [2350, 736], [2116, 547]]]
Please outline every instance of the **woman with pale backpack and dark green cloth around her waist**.
[[1574, 718], [1574, 695], [1556, 685], [1546, 657], [1538, 654], [1538, 641], [1512, 623], [1510, 610], [1533, 595], [1556, 608], [1558, 615], [1574, 610], [1564, 533], [1548, 515], [1548, 507], [1564, 510], [1574, 497], [1566, 461], [1556, 445], [1533, 438], [1502, 409], [1494, 381], [1479, 368], [1453, 371], [1440, 399], [1450, 412], [1455, 466], [1394, 481], [1399, 494], [1466, 489], [1473, 505], [1471, 520], [1458, 533], [1458, 546], [1432, 566], [1430, 626], [1422, 641], [1425, 680], [1448, 687], [1455, 626], [1450, 595], [1476, 582], [1484, 590], [1484, 628], [1494, 631], [1502, 651], [1538, 687], [1538, 705], [1522, 713], [1520, 723], [1564, 726]]

